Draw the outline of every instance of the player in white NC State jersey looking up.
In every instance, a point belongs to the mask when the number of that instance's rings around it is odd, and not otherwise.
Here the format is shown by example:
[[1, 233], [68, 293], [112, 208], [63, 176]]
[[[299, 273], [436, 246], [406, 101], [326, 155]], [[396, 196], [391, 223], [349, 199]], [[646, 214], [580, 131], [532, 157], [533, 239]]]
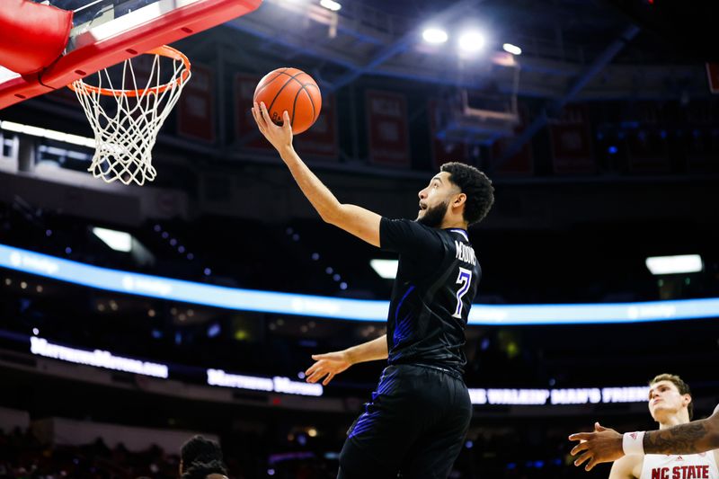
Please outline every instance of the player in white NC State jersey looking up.
[[[691, 392], [679, 376], [661, 374], [649, 386], [649, 412], [660, 430], [691, 421]], [[719, 449], [700, 454], [632, 454], [614, 462], [609, 479], [719, 479], [717, 465]]]

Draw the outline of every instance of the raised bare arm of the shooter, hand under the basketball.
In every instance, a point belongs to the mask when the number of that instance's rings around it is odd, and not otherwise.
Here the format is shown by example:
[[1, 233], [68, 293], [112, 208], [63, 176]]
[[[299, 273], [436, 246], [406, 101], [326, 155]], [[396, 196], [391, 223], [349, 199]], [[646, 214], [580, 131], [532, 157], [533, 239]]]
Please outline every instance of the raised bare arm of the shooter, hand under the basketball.
[[253, 117], [262, 135], [277, 149], [282, 161], [295, 178], [299, 189], [320, 214], [325, 222], [338, 226], [369, 244], [379, 246], [379, 220], [381, 217], [365, 208], [340, 203], [323, 182], [312, 173], [292, 146], [292, 128], [288, 112], [282, 118], [282, 126], [270, 120], [264, 103], [254, 103]]

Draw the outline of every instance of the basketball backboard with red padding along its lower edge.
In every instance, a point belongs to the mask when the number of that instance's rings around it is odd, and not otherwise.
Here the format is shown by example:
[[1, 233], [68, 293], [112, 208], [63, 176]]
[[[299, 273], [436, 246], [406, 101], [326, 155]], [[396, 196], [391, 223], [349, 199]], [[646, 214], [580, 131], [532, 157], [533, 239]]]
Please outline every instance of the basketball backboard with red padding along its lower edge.
[[74, 12], [63, 56], [35, 75], [0, 67], [0, 109], [253, 12], [262, 0], [49, 0]]

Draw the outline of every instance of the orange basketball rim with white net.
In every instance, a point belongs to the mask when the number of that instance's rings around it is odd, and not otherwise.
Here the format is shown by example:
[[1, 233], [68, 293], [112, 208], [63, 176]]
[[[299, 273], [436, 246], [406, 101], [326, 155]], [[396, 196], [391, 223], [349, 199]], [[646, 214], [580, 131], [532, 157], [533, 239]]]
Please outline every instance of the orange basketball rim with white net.
[[[146, 55], [154, 58], [144, 87], [138, 85], [132, 58], [122, 63], [121, 75], [114, 75], [119, 88], [107, 68], [97, 72], [96, 86], [83, 79], [67, 85], [77, 94], [95, 135], [93, 164], [87, 171], [104, 182], [142, 185], [155, 180], [152, 147], [157, 132], [191, 76], [190, 60], [172, 47], [151, 49]], [[172, 60], [169, 70], [161, 69], [163, 58]]]

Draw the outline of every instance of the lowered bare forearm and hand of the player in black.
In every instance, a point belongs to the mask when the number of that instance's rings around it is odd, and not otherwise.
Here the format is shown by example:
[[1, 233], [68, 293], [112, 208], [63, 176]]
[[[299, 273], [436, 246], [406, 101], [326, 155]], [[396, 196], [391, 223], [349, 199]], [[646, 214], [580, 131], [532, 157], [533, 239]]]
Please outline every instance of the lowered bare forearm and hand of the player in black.
[[383, 334], [372, 341], [363, 342], [346, 350], [313, 354], [315, 364], [305, 371], [306, 381], [316, 383], [324, 377], [322, 384], [327, 386], [333, 377], [359, 362], [387, 359], [387, 335]]

